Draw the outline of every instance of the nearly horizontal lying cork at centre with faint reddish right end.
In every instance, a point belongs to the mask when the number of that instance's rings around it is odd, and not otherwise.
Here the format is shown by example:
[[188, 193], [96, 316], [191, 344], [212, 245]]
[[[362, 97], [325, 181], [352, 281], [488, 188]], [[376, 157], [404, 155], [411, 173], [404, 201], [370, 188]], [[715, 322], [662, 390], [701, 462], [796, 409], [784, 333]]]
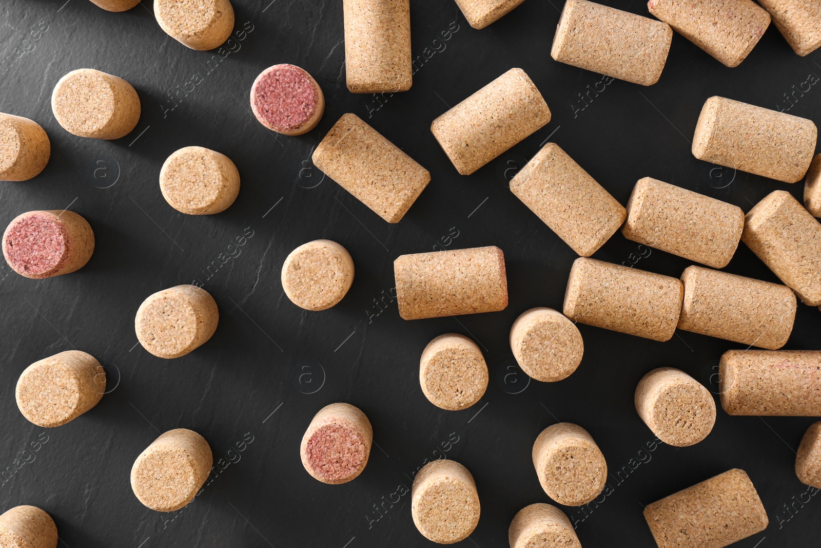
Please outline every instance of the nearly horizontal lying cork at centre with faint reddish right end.
[[507, 306], [505, 256], [497, 246], [398, 256], [393, 275], [403, 320], [497, 312]]

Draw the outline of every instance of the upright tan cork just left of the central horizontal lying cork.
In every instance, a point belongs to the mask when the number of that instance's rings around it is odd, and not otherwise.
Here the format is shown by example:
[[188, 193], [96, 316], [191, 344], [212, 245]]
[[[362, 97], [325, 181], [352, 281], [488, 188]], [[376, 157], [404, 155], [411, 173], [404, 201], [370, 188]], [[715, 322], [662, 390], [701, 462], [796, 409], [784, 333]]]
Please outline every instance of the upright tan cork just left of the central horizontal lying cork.
[[296, 306], [323, 311], [342, 301], [354, 281], [354, 260], [330, 240], [297, 247], [282, 265], [282, 289]]

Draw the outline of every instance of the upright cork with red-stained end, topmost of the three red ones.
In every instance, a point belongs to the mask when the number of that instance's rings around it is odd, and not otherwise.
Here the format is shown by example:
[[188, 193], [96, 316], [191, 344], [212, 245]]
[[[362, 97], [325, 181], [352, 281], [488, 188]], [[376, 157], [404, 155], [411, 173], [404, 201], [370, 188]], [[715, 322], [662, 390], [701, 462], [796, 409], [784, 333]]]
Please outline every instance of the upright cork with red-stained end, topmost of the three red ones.
[[251, 109], [269, 130], [302, 135], [319, 123], [325, 97], [308, 72], [294, 65], [274, 65], [260, 72], [251, 86]]

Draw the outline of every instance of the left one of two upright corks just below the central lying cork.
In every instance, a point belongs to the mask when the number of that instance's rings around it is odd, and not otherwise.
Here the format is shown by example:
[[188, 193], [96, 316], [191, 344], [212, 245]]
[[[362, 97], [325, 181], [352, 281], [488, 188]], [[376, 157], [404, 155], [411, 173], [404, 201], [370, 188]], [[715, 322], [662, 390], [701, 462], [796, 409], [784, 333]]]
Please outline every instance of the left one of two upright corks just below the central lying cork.
[[448, 411], [469, 408], [488, 388], [488, 365], [470, 338], [450, 333], [434, 338], [422, 352], [419, 382], [430, 403]]

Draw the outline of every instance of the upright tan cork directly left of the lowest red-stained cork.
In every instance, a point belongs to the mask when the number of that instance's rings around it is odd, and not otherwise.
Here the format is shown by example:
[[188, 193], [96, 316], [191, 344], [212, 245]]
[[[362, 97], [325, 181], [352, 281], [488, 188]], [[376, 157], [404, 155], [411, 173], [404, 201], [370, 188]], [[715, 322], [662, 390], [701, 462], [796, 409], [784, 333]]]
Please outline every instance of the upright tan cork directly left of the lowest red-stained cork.
[[213, 467], [205, 438], [177, 428], [160, 435], [134, 461], [131, 489], [145, 506], [173, 512], [194, 500]]

